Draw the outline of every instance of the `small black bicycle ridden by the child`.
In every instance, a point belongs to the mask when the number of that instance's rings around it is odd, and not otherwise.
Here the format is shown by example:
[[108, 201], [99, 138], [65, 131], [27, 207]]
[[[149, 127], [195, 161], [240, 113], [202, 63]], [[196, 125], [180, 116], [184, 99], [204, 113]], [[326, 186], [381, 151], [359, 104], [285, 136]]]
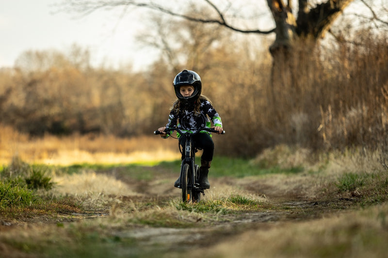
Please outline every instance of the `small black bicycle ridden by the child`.
[[[165, 132], [170, 134], [173, 131], [177, 131], [181, 136], [186, 137], [186, 143], [184, 147], [185, 156], [180, 166], [180, 183], [178, 188], [182, 190], [183, 202], [199, 202], [201, 200], [201, 194], [205, 196], [204, 188], [199, 185], [199, 166], [195, 164], [195, 152], [200, 150], [199, 148], [193, 148], [193, 136], [201, 131], [207, 131], [210, 133], [218, 133], [218, 131], [203, 127], [192, 133], [191, 131], [182, 132], [178, 127], [166, 127]], [[160, 135], [161, 132], [155, 131], [155, 135]], [[225, 134], [223, 131], [221, 134]], [[179, 146], [180, 150], [180, 146]]]

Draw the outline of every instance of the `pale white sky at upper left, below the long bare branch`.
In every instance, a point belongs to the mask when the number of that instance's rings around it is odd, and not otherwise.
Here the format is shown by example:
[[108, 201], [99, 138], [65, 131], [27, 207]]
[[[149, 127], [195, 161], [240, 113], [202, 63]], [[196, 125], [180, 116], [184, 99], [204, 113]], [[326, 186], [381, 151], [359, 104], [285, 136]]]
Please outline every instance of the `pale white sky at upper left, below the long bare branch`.
[[57, 12], [54, 5], [62, 1], [0, 0], [0, 68], [13, 67], [25, 51], [54, 49], [65, 54], [73, 44], [90, 51], [94, 66], [132, 64], [134, 70], [142, 70], [153, 61], [150, 49], [134, 40], [141, 29], [134, 13], [123, 19], [118, 11], [76, 17]]

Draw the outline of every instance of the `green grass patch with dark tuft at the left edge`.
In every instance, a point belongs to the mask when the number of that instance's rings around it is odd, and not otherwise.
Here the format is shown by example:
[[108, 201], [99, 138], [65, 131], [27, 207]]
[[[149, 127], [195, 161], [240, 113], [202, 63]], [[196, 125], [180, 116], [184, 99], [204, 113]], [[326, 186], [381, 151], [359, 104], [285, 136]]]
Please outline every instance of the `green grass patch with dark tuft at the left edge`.
[[50, 169], [45, 165], [29, 165], [17, 157], [9, 166], [3, 166], [0, 170], [1, 218], [24, 220], [80, 211], [72, 197], [47, 197], [47, 191], [55, 185], [48, 175]]

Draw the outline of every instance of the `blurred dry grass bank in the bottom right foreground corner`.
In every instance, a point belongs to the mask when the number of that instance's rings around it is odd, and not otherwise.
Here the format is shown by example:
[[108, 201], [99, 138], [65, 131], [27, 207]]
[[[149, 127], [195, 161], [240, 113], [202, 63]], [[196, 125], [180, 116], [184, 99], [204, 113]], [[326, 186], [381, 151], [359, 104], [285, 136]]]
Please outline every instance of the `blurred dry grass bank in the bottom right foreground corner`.
[[388, 205], [319, 220], [257, 225], [193, 257], [385, 257]]

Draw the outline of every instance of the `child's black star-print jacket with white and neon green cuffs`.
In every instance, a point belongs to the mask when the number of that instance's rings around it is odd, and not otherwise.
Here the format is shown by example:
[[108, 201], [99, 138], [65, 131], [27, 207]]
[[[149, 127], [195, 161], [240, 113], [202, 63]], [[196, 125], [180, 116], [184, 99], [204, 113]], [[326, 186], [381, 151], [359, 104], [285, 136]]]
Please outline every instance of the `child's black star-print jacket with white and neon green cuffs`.
[[[214, 126], [222, 127], [221, 118], [210, 102], [206, 99], [201, 99], [200, 101], [201, 106], [199, 108], [199, 114], [195, 114], [194, 110], [185, 110], [183, 108], [181, 108], [178, 113], [171, 110], [166, 127], [177, 126], [183, 132], [191, 131], [195, 133], [201, 127], [210, 128], [211, 123], [209, 118], [213, 122]], [[201, 131], [200, 133], [210, 134], [207, 131]], [[179, 134], [177, 135], [179, 137]], [[166, 138], [167, 137], [169, 137], [169, 135], [167, 135]]]

